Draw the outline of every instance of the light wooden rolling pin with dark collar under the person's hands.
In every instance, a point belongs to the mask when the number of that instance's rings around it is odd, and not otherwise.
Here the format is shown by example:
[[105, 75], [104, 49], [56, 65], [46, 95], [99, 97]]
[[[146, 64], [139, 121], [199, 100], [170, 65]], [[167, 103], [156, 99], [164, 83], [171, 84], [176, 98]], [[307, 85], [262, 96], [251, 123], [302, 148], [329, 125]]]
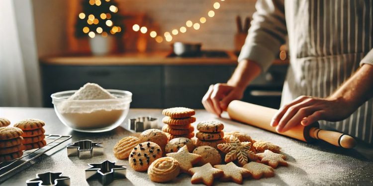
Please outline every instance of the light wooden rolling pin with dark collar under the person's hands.
[[[232, 101], [228, 105], [227, 109], [228, 115], [232, 120], [250, 124], [276, 133], [276, 127], [271, 126], [270, 124], [277, 111], [278, 110], [276, 109], [238, 100]], [[305, 142], [313, 142], [317, 139], [321, 139], [330, 144], [343, 148], [354, 148], [356, 145], [356, 140], [353, 137], [340, 132], [320, 129], [317, 122], [308, 126], [298, 124], [286, 132], [281, 132], [280, 134]]]

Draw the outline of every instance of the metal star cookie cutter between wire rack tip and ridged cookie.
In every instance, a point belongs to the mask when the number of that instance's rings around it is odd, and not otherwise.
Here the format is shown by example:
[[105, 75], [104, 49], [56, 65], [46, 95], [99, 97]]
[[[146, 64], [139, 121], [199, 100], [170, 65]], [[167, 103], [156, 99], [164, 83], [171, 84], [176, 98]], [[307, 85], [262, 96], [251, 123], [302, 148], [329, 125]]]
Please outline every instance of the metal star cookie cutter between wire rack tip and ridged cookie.
[[88, 159], [93, 156], [103, 155], [101, 142], [91, 140], [81, 140], [67, 145], [67, 156], [78, 156], [79, 159]]

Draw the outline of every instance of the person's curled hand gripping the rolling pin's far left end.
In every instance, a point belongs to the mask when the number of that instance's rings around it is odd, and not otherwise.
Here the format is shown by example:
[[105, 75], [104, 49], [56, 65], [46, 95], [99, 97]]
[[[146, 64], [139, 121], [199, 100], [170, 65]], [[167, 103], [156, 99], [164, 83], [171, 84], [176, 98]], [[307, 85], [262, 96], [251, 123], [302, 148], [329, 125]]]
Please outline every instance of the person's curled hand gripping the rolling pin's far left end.
[[239, 87], [229, 86], [225, 83], [210, 85], [208, 91], [202, 98], [203, 107], [210, 113], [220, 117], [229, 103], [233, 100], [240, 100], [244, 90]]

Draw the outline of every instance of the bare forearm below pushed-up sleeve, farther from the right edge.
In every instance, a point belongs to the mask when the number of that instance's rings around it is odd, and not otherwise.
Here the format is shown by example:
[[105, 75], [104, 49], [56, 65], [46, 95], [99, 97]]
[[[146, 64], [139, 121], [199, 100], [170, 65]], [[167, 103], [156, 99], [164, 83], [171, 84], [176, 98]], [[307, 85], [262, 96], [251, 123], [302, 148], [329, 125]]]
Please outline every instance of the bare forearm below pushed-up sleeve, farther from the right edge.
[[261, 71], [261, 67], [256, 62], [242, 60], [238, 63], [237, 68], [234, 70], [227, 84], [244, 90]]

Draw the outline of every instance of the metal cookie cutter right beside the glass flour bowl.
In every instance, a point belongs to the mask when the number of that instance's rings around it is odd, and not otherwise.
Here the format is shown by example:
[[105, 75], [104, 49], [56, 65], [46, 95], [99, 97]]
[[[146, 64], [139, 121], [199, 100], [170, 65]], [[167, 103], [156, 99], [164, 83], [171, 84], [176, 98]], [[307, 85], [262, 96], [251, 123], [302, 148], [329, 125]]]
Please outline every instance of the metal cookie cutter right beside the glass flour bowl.
[[128, 129], [135, 130], [135, 132], [142, 132], [150, 128], [158, 128], [158, 119], [148, 117], [137, 117], [129, 119]]

